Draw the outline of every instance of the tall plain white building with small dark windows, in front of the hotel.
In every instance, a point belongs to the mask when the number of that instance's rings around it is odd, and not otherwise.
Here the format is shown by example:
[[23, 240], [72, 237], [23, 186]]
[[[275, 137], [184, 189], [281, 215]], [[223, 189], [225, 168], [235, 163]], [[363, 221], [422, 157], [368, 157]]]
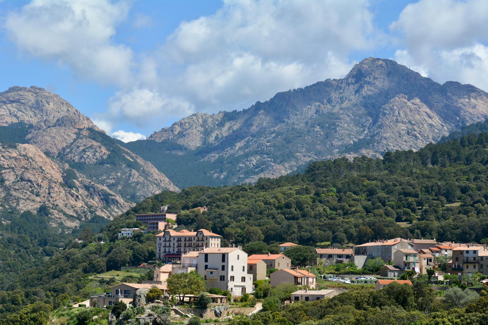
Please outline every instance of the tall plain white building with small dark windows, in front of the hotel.
[[233, 296], [252, 291], [252, 274], [247, 273], [247, 253], [240, 248], [204, 248], [198, 254], [197, 272], [207, 288], [228, 290]]

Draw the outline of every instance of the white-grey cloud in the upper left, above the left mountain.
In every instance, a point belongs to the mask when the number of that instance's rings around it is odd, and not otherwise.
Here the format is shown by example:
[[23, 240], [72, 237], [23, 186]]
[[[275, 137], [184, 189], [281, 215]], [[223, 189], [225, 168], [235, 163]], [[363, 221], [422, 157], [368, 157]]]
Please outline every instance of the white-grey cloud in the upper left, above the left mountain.
[[4, 27], [20, 50], [122, 87], [131, 81], [133, 52], [111, 38], [128, 10], [126, 1], [33, 0], [10, 12]]

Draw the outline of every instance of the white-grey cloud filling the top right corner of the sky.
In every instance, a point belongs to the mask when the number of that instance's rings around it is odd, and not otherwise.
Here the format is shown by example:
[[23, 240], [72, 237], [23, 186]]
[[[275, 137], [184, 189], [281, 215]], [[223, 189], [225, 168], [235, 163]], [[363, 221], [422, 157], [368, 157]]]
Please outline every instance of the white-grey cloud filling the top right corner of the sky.
[[398, 33], [394, 59], [438, 82], [488, 90], [488, 1], [420, 0], [390, 25]]

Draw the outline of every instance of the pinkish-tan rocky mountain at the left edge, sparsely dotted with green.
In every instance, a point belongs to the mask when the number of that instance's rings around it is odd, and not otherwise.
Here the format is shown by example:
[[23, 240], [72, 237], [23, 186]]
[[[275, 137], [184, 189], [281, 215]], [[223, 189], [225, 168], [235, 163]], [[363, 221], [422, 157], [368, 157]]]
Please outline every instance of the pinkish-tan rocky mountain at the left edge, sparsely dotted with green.
[[[179, 191], [151, 163], [42, 88], [0, 93], [0, 127], [0, 209], [34, 211], [46, 204], [53, 224], [72, 228], [95, 214], [111, 218], [163, 190]], [[26, 135], [12, 139], [14, 130]]]

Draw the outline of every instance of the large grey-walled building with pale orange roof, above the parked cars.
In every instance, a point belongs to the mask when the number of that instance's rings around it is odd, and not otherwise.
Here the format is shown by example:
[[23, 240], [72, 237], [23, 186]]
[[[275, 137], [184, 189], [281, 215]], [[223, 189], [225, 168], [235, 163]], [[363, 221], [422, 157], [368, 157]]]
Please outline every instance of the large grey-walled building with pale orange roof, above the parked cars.
[[[356, 256], [360, 255], [367, 256], [368, 258], [381, 257], [385, 263], [389, 263], [393, 261], [393, 255], [398, 249], [413, 249], [413, 244], [404, 238], [393, 238], [357, 245], [354, 246], [354, 263], [358, 265], [356, 260], [360, 259], [356, 259]], [[366, 259], [364, 259], [364, 262]], [[362, 268], [363, 265], [358, 265], [358, 267]]]

